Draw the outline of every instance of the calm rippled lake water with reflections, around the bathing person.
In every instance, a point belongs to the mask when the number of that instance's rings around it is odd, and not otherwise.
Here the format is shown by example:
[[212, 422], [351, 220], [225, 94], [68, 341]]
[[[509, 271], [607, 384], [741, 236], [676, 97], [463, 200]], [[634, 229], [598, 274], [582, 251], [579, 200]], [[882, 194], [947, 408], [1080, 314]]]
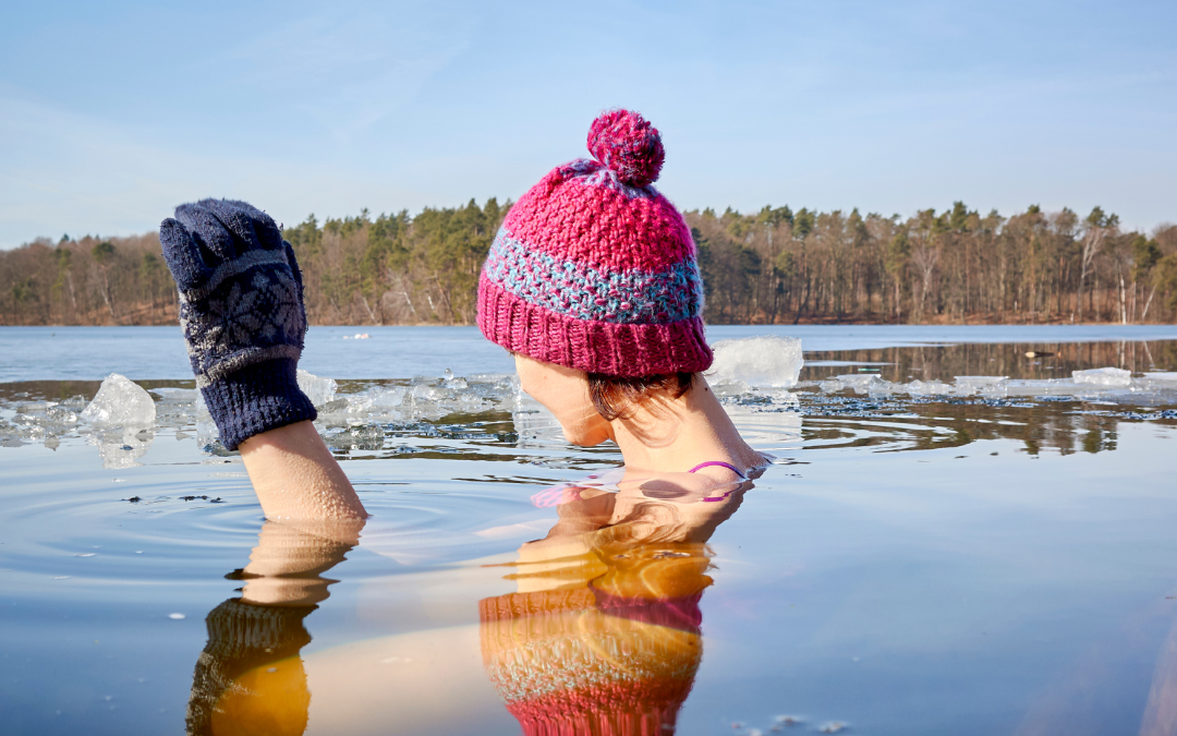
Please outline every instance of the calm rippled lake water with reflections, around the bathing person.
[[[353, 544], [264, 523], [178, 329], [0, 327], [0, 731], [1177, 732], [1177, 327], [759, 334], [774, 464], [591, 548], [620, 456], [474, 330], [311, 330]], [[112, 372], [152, 427], [78, 419]]]

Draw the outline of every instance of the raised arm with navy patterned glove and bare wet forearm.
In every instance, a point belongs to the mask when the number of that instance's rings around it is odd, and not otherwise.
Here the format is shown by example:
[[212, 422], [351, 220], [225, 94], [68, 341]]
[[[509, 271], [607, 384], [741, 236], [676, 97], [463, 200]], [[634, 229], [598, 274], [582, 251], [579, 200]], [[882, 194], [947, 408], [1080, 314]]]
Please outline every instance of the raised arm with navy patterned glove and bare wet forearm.
[[205, 199], [177, 207], [160, 243], [197, 385], [221, 443], [241, 451], [266, 518], [365, 518], [298, 387], [302, 274], [278, 225], [246, 203]]

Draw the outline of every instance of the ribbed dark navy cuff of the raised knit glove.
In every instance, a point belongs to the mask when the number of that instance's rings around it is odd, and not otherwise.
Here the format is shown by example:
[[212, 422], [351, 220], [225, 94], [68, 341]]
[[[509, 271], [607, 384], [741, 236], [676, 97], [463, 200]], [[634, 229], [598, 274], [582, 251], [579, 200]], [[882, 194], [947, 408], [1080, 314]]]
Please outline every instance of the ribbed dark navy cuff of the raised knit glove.
[[318, 416], [298, 387], [295, 366], [290, 358], [265, 360], [201, 389], [221, 444], [237, 450], [254, 435]]

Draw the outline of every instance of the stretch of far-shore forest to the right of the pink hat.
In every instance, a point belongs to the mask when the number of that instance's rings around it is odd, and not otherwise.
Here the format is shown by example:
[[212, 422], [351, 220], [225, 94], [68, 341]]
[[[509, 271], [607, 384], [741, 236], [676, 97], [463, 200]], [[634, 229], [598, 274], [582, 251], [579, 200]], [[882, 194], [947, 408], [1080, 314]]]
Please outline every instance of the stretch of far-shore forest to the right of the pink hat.
[[1124, 232], [1099, 207], [686, 218], [713, 323], [1129, 324], [1177, 311], [1177, 226]]

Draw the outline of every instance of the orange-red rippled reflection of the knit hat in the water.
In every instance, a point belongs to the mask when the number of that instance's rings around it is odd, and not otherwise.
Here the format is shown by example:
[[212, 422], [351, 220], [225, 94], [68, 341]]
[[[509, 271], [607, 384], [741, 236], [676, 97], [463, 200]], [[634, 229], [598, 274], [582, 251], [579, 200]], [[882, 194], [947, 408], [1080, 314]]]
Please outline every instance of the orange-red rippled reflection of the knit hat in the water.
[[700, 596], [578, 588], [487, 598], [487, 672], [526, 736], [671, 732], [703, 656]]

